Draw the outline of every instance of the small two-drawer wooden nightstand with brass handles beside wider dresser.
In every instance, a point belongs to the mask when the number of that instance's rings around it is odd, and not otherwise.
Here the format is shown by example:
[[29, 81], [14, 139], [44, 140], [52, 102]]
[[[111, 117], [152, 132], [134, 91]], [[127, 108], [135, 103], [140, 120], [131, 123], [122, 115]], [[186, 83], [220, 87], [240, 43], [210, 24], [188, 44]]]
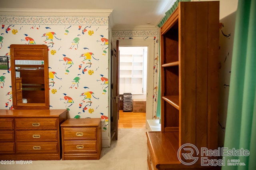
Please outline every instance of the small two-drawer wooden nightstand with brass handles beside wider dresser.
[[62, 160], [100, 159], [101, 119], [67, 119], [61, 125]]

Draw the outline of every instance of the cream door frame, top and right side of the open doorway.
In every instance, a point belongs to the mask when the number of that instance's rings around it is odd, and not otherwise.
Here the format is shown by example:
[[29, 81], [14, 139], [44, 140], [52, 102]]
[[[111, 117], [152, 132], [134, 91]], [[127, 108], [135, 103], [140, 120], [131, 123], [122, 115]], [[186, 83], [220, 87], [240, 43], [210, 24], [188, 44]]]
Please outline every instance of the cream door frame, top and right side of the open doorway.
[[[119, 40], [119, 47], [148, 47], [146, 120], [153, 118], [154, 40]], [[146, 121], [145, 120], [145, 121]]]

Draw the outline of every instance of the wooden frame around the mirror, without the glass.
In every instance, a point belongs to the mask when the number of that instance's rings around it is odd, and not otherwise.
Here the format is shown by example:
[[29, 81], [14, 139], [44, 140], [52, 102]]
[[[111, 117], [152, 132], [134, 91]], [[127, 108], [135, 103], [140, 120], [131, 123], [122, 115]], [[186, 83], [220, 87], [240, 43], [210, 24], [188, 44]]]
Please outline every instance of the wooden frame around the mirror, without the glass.
[[[10, 45], [10, 62], [12, 77], [12, 102], [14, 109], [49, 109], [49, 69], [47, 45]], [[17, 89], [21, 83], [16, 84], [15, 60], [44, 60], [44, 103], [17, 102]], [[21, 96], [22, 97], [22, 96]]]

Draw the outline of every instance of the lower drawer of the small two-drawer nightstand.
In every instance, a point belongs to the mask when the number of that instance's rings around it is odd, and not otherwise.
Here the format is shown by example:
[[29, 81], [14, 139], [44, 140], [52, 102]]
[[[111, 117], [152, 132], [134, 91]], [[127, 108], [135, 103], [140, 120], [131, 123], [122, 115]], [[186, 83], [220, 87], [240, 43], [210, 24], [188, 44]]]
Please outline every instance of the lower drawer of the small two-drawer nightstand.
[[67, 140], [64, 141], [64, 152], [97, 152], [97, 142], [96, 140]]

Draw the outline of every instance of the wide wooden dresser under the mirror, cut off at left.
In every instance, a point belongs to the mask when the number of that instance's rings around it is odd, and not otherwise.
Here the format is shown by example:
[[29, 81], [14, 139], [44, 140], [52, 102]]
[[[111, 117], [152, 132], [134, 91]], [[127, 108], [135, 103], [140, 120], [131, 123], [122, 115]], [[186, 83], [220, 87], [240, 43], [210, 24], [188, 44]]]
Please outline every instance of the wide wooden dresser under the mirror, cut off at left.
[[60, 124], [68, 111], [0, 110], [1, 160], [60, 160]]

